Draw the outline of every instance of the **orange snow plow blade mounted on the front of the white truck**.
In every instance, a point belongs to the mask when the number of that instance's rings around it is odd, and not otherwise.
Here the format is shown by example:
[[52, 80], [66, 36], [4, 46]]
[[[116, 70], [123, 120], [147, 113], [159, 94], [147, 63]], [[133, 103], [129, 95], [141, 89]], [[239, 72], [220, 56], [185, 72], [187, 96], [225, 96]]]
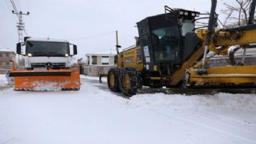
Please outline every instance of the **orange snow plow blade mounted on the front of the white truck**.
[[80, 75], [78, 69], [58, 69], [45, 71], [12, 70], [14, 90], [17, 91], [78, 91]]

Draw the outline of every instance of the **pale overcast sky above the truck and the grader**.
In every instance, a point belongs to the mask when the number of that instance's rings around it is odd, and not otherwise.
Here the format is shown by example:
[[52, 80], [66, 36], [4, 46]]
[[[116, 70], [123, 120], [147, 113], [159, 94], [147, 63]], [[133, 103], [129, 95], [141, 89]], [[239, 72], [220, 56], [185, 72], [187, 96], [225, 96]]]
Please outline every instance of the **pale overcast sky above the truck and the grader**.
[[[31, 37], [66, 39], [78, 45], [78, 57], [87, 53], [115, 51], [115, 30], [120, 45], [135, 44], [136, 22], [172, 8], [209, 12], [211, 0], [14, 0], [24, 17], [25, 30]], [[218, 10], [223, 9], [219, 0]], [[15, 50], [18, 41], [17, 17], [9, 0], [0, 0], [0, 47]]]

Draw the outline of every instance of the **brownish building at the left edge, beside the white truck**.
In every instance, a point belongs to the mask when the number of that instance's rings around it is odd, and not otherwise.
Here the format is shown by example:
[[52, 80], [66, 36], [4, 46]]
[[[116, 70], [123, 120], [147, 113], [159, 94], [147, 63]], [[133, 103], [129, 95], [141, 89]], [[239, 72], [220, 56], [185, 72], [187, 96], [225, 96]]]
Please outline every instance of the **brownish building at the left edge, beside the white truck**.
[[0, 74], [6, 74], [12, 69], [12, 61], [16, 60], [16, 53], [8, 49], [0, 49]]

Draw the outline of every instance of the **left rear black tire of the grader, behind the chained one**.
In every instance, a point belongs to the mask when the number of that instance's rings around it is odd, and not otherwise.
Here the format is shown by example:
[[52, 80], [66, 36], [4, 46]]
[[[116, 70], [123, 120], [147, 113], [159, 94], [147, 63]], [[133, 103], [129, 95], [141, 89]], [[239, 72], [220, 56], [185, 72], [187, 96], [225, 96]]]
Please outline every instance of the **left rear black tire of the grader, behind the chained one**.
[[[111, 84], [110, 77], [113, 76], [114, 84]], [[110, 70], [107, 73], [107, 86], [110, 89], [110, 91], [113, 92], [120, 92], [120, 84], [119, 84], [119, 76], [120, 76], [120, 69], [119, 68], [110, 68]]]

